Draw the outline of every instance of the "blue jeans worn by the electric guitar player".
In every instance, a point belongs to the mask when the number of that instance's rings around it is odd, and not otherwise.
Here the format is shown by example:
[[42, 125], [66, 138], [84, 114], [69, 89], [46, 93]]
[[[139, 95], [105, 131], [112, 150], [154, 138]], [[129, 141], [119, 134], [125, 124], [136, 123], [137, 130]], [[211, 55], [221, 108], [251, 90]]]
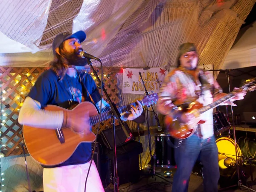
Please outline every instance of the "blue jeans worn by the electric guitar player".
[[190, 173], [199, 155], [203, 164], [204, 192], [218, 192], [220, 172], [215, 137], [203, 140], [196, 134], [183, 140], [180, 147], [175, 148], [177, 170], [173, 178], [172, 192], [188, 191]]

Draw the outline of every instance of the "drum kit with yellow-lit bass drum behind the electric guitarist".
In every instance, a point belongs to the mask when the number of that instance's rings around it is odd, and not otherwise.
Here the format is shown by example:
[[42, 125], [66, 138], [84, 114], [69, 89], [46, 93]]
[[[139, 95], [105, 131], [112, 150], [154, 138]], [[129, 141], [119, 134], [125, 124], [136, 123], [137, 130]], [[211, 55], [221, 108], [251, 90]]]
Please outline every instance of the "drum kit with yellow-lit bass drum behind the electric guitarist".
[[[218, 160], [220, 169], [227, 169], [229, 166], [236, 164], [235, 141], [230, 137], [224, 137], [222, 134], [231, 127], [224, 113], [217, 111], [213, 113], [213, 127], [218, 147]], [[155, 134], [155, 166], [163, 168], [175, 168], [174, 150], [178, 147], [173, 137], [166, 133]], [[241, 149], [236, 143], [238, 162], [242, 163]]]

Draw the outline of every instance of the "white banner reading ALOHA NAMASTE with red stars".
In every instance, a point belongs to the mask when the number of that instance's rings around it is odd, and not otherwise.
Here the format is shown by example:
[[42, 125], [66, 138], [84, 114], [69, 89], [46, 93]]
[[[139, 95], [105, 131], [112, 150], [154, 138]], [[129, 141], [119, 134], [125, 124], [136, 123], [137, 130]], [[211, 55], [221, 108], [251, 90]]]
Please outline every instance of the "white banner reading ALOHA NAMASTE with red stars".
[[141, 73], [147, 91], [151, 92], [153, 90], [154, 93], [159, 92], [163, 79], [168, 73], [167, 70], [160, 67], [150, 68], [148, 70], [124, 68], [122, 93], [140, 95], [145, 93], [139, 72]]

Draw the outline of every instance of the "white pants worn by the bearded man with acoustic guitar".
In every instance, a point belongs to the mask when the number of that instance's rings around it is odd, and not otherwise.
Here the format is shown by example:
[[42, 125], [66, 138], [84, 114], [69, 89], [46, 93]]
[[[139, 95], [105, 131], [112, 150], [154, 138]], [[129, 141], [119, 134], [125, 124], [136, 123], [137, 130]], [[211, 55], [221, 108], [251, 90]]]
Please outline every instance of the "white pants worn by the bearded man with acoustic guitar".
[[[81, 165], [44, 168], [44, 192], [84, 192], [90, 161]], [[86, 192], [105, 192], [94, 161], [90, 167]]]

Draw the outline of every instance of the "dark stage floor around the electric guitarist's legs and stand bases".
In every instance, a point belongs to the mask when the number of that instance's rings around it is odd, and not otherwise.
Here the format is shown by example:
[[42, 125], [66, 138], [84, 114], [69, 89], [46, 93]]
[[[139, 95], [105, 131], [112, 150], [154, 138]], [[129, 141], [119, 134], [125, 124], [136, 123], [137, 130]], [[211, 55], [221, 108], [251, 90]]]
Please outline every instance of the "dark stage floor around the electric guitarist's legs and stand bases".
[[[234, 173], [236, 167], [231, 168], [230, 170], [225, 170], [221, 172], [219, 192], [249, 192], [250, 190], [241, 186], [229, 189], [224, 189], [226, 186], [237, 183], [237, 175], [231, 178], [231, 175]], [[148, 169], [143, 169], [140, 172], [140, 180], [137, 183], [125, 183], [119, 186], [119, 192], [171, 192], [172, 190], [172, 180], [173, 177], [166, 178], [164, 177], [164, 172], [172, 171], [172, 174], [175, 174], [175, 169], [159, 168], [156, 167], [156, 176], [152, 177], [149, 175]], [[256, 190], [256, 166], [244, 166], [240, 169], [243, 171], [246, 176], [247, 185], [252, 186], [252, 189]], [[251, 170], [251, 172], [250, 172]], [[230, 176], [228, 176], [230, 175]], [[160, 177], [158, 177], [160, 176]], [[162, 177], [162, 178], [161, 178]], [[244, 177], [242, 177], [244, 178]], [[251, 182], [251, 178], [253, 182]], [[195, 167], [193, 173], [191, 174], [189, 181], [189, 192], [203, 192], [203, 178], [200, 173], [200, 169]], [[105, 188], [105, 192], [114, 192], [113, 185], [110, 184]]]

